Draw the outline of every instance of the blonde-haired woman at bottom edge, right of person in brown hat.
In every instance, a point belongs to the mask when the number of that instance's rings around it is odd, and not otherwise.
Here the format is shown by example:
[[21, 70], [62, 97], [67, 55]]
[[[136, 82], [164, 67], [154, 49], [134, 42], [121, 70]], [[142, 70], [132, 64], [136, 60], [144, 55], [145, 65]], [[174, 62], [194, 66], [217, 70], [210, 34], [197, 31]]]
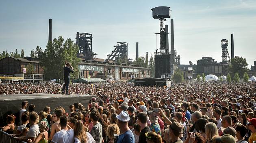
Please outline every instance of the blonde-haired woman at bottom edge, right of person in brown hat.
[[210, 140], [215, 135], [219, 135], [218, 128], [215, 123], [209, 122], [205, 125], [206, 143], [210, 143]]

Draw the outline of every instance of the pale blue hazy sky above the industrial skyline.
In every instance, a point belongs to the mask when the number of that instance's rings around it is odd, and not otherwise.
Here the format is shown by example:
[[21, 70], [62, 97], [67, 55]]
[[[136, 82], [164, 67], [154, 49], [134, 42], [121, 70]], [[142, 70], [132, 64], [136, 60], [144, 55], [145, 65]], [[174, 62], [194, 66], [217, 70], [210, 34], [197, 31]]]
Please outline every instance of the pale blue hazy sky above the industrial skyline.
[[[159, 49], [159, 20], [151, 8], [169, 6], [174, 19], [174, 47], [181, 64], [202, 57], [221, 62], [221, 39], [234, 34], [234, 55], [256, 61], [256, 0], [1, 0], [0, 52], [24, 48], [25, 56], [37, 45], [46, 48], [48, 22], [53, 38], [76, 42], [76, 32], [93, 36], [96, 58], [106, 59], [117, 42], [128, 42], [128, 58]], [[165, 21], [170, 27], [170, 19]], [[170, 36], [169, 36], [170, 37]], [[170, 38], [169, 38], [170, 44]]]

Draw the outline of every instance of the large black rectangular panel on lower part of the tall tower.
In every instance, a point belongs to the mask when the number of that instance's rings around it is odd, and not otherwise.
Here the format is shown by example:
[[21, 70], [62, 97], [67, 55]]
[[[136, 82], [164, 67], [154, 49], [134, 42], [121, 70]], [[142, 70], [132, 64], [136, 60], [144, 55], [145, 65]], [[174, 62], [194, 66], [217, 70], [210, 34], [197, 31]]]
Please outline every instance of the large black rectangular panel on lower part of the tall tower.
[[155, 78], [171, 73], [171, 54], [155, 55]]

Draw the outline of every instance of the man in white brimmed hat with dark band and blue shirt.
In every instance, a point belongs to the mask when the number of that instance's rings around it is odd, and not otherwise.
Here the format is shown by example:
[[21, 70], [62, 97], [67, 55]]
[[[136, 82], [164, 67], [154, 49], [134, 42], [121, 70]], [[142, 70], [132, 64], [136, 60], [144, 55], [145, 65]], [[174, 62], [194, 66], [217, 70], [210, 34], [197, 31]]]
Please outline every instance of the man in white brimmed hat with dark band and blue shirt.
[[127, 111], [121, 111], [121, 113], [117, 115], [117, 125], [120, 128], [120, 135], [117, 139], [117, 143], [135, 143], [133, 133], [128, 127], [129, 120], [130, 117]]

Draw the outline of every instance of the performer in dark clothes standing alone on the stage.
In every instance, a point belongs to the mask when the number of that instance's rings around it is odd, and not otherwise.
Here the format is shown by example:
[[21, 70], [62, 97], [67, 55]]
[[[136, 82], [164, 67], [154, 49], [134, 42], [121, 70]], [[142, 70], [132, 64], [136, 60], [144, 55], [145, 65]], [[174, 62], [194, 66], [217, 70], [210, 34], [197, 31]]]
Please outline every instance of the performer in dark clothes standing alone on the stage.
[[70, 81], [69, 73], [70, 72], [74, 73], [74, 70], [73, 70], [73, 67], [71, 66], [71, 64], [68, 63], [68, 62], [66, 63], [66, 66], [63, 69], [64, 69], [64, 82], [65, 82], [65, 84], [63, 85], [61, 94], [64, 95], [64, 91], [65, 91], [65, 88], [66, 88], [66, 95], [70, 95], [68, 93], [68, 86], [69, 86], [69, 81]]

